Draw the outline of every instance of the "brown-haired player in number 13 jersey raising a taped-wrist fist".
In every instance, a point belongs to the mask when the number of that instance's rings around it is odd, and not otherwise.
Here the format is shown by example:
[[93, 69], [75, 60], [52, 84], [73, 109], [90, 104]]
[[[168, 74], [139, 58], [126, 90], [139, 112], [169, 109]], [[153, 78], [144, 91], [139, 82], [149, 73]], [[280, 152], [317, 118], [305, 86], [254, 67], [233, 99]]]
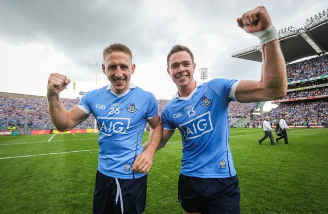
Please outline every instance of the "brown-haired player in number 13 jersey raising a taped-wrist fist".
[[[260, 81], [194, 80], [196, 63], [189, 48], [175, 45], [167, 56], [167, 72], [178, 89], [162, 112], [159, 148], [178, 128], [182, 135], [178, 199], [184, 213], [240, 213], [240, 190], [229, 148], [228, 105], [232, 100], [256, 102], [286, 96], [287, 77], [278, 33], [265, 7], [237, 19], [238, 26], [262, 44]], [[145, 148], [146, 144], [143, 145]]]

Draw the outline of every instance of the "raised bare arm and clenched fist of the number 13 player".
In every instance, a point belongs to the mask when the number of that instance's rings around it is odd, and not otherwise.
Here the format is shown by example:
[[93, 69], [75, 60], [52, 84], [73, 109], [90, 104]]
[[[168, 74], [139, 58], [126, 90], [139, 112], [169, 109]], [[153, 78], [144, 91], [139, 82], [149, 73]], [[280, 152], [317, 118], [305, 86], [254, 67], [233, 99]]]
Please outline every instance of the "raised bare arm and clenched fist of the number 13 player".
[[[237, 19], [238, 26], [247, 27], [248, 33], [267, 29], [272, 25], [265, 7], [257, 7]], [[262, 73], [260, 81], [243, 80], [235, 97], [240, 102], [270, 101], [286, 96], [286, 65], [278, 39], [262, 45]]]

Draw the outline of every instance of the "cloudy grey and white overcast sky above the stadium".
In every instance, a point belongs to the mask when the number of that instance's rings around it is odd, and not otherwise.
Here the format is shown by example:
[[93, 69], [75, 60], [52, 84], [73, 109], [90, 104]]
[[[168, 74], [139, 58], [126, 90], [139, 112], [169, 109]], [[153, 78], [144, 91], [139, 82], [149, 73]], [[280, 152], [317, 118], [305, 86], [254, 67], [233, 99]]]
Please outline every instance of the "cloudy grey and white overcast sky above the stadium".
[[113, 43], [132, 50], [131, 82], [157, 99], [176, 92], [166, 72], [167, 53], [176, 44], [194, 53], [195, 79], [205, 67], [208, 80], [259, 80], [261, 63], [231, 57], [259, 44], [236, 19], [263, 5], [279, 30], [303, 27], [307, 18], [328, 9], [327, 0], [0, 0], [0, 5], [0, 92], [46, 96], [48, 77], [57, 72], [71, 79], [63, 98], [108, 84], [102, 51]]

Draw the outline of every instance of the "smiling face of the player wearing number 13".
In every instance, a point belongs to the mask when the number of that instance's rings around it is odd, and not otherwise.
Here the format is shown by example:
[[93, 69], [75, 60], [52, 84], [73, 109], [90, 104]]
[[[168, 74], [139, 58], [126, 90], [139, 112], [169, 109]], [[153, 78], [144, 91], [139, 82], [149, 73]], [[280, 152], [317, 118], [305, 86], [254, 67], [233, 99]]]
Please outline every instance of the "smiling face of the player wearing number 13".
[[191, 93], [196, 86], [194, 81], [196, 64], [192, 63], [190, 54], [187, 51], [175, 52], [170, 56], [168, 62], [167, 72], [176, 84], [180, 96], [185, 92]]

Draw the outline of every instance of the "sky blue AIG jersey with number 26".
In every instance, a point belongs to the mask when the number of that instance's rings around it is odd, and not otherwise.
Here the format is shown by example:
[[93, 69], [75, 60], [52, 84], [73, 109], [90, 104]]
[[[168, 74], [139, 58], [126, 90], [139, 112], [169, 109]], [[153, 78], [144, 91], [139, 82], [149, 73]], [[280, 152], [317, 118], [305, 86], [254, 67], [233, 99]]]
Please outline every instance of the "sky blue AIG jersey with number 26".
[[142, 151], [146, 120], [158, 114], [153, 94], [130, 83], [129, 89], [115, 94], [111, 84], [86, 94], [77, 104], [93, 114], [99, 130], [98, 170], [114, 178], [132, 179], [144, 176], [132, 172], [132, 165]]

